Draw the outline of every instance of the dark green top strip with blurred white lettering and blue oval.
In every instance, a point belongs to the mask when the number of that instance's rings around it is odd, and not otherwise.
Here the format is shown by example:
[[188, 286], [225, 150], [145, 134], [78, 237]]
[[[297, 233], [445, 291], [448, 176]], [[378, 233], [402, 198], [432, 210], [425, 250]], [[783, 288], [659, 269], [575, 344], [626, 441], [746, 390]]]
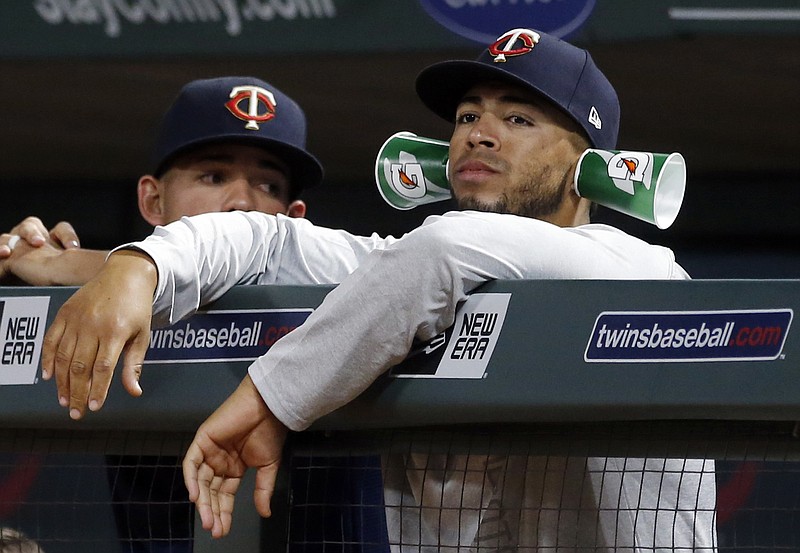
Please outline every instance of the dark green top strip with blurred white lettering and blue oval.
[[0, 2], [0, 56], [408, 51], [490, 43], [517, 27], [580, 42], [798, 24], [797, 0], [18, 0]]

